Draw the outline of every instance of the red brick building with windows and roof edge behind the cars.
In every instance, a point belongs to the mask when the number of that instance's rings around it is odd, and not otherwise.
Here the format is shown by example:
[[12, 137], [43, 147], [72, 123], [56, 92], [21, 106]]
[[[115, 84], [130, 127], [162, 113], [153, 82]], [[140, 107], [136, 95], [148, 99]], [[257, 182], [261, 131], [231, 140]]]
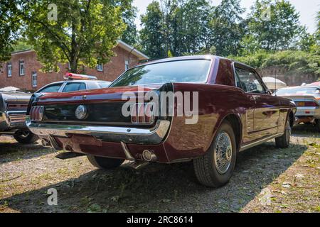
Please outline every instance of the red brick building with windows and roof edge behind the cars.
[[[149, 59], [142, 52], [121, 40], [114, 48], [114, 53], [115, 57], [112, 57], [110, 62], [105, 65], [97, 65], [95, 69], [85, 68], [85, 74], [112, 82], [127, 68]], [[61, 81], [65, 72], [68, 72], [68, 64], [60, 65], [58, 73], [41, 72], [41, 63], [38, 62], [36, 52], [33, 50], [13, 52], [11, 61], [1, 65], [0, 88], [13, 86], [28, 91], [36, 91], [46, 84]]]

